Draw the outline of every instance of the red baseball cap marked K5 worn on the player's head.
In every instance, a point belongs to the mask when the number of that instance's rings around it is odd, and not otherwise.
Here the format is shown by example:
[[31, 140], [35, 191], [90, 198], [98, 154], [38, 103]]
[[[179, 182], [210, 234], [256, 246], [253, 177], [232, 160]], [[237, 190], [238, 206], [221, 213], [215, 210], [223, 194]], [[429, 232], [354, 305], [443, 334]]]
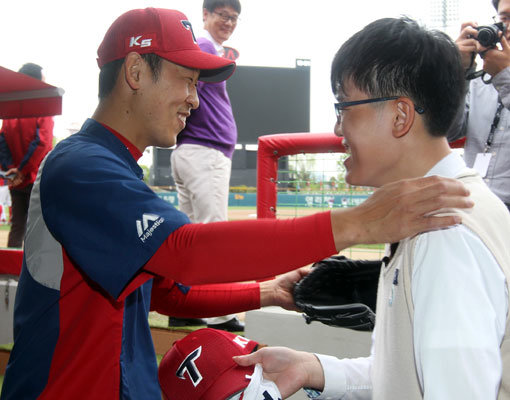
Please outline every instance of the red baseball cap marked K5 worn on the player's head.
[[119, 60], [132, 51], [154, 53], [184, 67], [200, 70], [201, 81], [221, 82], [235, 69], [232, 60], [200, 50], [188, 18], [176, 10], [127, 11], [110, 26], [97, 49], [97, 63]]

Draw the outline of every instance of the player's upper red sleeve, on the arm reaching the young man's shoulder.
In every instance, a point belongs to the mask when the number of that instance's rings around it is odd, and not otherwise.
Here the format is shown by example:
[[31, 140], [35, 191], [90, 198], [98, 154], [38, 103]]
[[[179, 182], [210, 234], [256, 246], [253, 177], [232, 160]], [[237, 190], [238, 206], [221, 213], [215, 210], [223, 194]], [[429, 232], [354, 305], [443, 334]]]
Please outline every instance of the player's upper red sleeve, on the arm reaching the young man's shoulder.
[[330, 212], [292, 219], [188, 224], [144, 269], [185, 285], [272, 277], [336, 254]]

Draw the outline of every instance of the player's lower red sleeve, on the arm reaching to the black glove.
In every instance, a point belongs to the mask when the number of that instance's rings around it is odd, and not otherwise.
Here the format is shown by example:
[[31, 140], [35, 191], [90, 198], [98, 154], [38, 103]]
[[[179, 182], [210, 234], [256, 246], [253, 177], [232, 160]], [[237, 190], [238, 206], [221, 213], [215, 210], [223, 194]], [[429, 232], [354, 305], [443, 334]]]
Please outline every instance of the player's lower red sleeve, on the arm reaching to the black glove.
[[151, 310], [175, 317], [206, 318], [260, 308], [258, 283], [192, 286], [183, 293], [170, 279], [155, 278]]

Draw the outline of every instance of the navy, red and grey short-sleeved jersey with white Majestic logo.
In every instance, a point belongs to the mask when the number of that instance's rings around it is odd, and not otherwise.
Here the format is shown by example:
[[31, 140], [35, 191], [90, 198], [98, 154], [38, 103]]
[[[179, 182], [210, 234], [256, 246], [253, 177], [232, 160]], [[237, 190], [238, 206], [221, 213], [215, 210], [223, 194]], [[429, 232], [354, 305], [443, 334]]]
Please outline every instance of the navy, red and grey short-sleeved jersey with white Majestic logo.
[[141, 269], [188, 222], [101, 124], [60, 142], [32, 191], [2, 399], [159, 400]]

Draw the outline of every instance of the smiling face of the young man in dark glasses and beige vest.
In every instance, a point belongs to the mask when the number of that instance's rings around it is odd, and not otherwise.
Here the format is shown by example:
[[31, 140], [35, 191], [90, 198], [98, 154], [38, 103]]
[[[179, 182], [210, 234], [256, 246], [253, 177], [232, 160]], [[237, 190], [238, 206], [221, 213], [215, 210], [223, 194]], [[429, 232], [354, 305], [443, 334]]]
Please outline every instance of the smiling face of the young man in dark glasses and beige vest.
[[[372, 96], [350, 82], [345, 85], [341, 102], [369, 99]], [[344, 161], [345, 180], [351, 185], [379, 187], [388, 182], [392, 172], [393, 152], [386, 142], [389, 102], [359, 104], [345, 108], [335, 124], [335, 134], [344, 137], [349, 157]]]

